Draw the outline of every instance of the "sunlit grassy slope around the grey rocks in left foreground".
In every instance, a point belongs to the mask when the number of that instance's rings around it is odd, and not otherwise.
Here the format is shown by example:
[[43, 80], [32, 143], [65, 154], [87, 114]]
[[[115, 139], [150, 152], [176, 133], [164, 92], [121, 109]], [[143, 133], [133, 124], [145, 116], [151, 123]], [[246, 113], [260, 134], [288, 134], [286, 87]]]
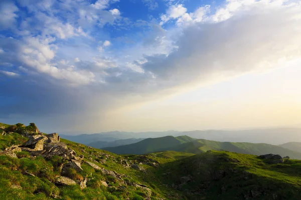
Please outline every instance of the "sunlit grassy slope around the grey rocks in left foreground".
[[[21, 144], [27, 140], [26, 137], [12, 133], [10, 135], [0, 135], [0, 150], [5, 149], [12, 144]], [[99, 153], [106, 153], [109, 158], [106, 163], [97, 165], [116, 171], [120, 174], [126, 174], [123, 177], [125, 181], [131, 181], [147, 185], [152, 189], [153, 194], [151, 199], [168, 198], [168, 199], [184, 199], [183, 194], [176, 190], [170, 190], [163, 185], [162, 181], [155, 176], [156, 168], [148, 165], [140, 165], [146, 169], [146, 172], [135, 170], [133, 168], [125, 168], [120, 164], [120, 160], [139, 160], [139, 155], [116, 155], [104, 150], [88, 148], [87, 146], [75, 143], [69, 140], [61, 139], [68, 147], [72, 148], [77, 154], [83, 154], [84, 159], [90, 161], [88, 158], [99, 160], [97, 155]], [[174, 161], [178, 158], [183, 158], [192, 155], [191, 153], [183, 152], [163, 152], [160, 157], [155, 154], [147, 155], [148, 158], [158, 160], [162, 163]], [[79, 185], [74, 186], [56, 186], [54, 180], [56, 175], [59, 175], [57, 165], [59, 165], [61, 158], [53, 157], [52, 160], [45, 160], [41, 156], [36, 158], [30, 157], [27, 152], [18, 153], [20, 158], [11, 158], [5, 155], [0, 156], [0, 199], [51, 199], [51, 194], [57, 194], [63, 199], [104, 199], [117, 200], [126, 199], [139, 200], [146, 196], [145, 191], [130, 185], [124, 185], [125, 188], [115, 189], [120, 186], [115, 178], [108, 175], [103, 175], [101, 171], [93, 169], [86, 163], [82, 163], [84, 169], [78, 175], [91, 178], [87, 183], [86, 189], [80, 189]], [[95, 163], [95, 162], [94, 162]], [[35, 176], [25, 175], [24, 172], [33, 173]], [[105, 180], [112, 187], [105, 188], [99, 181]], [[11, 185], [21, 185], [22, 189], [11, 188]]]

